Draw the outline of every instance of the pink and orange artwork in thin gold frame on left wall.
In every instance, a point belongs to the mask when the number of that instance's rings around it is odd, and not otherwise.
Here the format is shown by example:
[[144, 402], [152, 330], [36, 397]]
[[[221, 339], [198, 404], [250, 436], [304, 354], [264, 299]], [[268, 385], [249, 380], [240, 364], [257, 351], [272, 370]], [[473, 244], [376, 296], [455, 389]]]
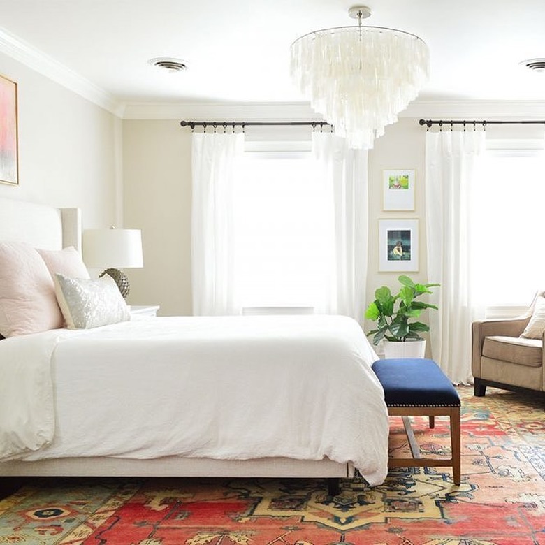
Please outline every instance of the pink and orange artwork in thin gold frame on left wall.
[[19, 183], [17, 83], [0, 75], [0, 182]]

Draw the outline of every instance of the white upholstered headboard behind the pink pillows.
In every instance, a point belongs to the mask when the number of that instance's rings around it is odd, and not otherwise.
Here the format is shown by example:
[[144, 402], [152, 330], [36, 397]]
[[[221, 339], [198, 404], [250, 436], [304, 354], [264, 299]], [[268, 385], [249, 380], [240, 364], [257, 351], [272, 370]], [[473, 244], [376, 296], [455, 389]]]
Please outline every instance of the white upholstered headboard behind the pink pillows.
[[81, 252], [81, 211], [0, 197], [0, 240]]

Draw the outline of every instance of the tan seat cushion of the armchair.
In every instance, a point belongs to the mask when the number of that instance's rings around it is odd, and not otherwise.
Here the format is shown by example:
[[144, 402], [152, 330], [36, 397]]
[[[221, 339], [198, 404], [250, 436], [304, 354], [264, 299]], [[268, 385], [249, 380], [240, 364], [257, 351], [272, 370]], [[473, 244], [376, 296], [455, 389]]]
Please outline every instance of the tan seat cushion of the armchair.
[[494, 360], [518, 363], [518, 365], [541, 367], [542, 338], [527, 339], [502, 335], [485, 337], [482, 355]]

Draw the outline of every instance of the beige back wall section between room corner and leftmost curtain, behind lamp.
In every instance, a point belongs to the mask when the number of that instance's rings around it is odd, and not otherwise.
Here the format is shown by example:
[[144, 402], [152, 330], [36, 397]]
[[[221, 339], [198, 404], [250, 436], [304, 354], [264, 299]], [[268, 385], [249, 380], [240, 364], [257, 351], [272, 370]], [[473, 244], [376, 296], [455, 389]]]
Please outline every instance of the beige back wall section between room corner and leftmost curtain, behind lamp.
[[175, 120], [123, 124], [124, 226], [142, 229], [144, 268], [129, 303], [191, 314], [191, 131]]

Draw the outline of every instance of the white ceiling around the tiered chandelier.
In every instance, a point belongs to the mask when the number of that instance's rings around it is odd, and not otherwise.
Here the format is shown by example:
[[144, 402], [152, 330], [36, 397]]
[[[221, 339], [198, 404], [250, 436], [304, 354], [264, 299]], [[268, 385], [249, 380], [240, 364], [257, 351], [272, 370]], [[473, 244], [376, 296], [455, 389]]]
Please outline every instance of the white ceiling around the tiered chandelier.
[[[365, 24], [420, 36], [431, 78], [419, 99], [545, 101], [545, 0], [368, 0]], [[345, 0], [0, 0], [0, 31], [119, 103], [270, 103], [303, 98], [289, 46], [355, 24]], [[183, 73], [147, 63], [187, 61]]]

